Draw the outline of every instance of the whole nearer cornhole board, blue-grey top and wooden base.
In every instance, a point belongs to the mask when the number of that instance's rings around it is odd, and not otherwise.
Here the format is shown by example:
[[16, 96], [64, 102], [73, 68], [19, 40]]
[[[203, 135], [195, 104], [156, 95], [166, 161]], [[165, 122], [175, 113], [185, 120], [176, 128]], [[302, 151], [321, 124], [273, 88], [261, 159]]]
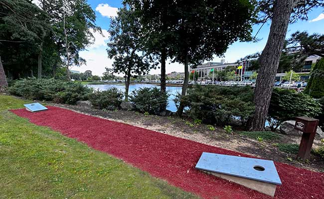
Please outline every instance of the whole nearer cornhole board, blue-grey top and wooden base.
[[273, 161], [203, 152], [196, 165], [205, 173], [274, 197], [281, 185]]

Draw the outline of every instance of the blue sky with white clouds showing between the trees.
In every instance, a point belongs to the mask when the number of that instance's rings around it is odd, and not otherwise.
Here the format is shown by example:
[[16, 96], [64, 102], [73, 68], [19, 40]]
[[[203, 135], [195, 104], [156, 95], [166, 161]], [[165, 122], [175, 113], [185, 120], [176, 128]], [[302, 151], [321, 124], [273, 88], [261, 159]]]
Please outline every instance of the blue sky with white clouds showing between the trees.
[[[94, 75], [102, 76], [105, 72], [105, 67], [112, 67], [113, 60], [107, 58], [106, 43], [109, 38], [107, 29], [109, 28], [110, 18], [109, 16], [116, 15], [117, 8], [121, 7], [121, 0], [88, 0], [92, 9], [96, 11], [97, 20], [96, 23], [103, 30], [105, 37], [95, 33], [96, 41], [93, 45], [89, 46], [86, 51], [81, 52], [81, 56], [87, 60], [87, 65], [80, 68], [74, 67], [72, 70], [78, 70], [84, 72], [91, 70]], [[316, 21], [311, 21], [317, 19]], [[259, 26], [253, 27], [253, 35], [257, 32]], [[235, 42], [230, 45], [224, 58], [226, 62], [231, 63], [236, 60], [245, 57], [246, 55], [260, 52], [266, 45], [268, 34], [270, 30], [270, 22], [265, 24], [258, 34], [258, 38], [261, 40], [257, 43], [251, 42]], [[309, 33], [321, 33], [324, 34], [324, 8], [316, 8], [309, 13], [308, 21], [298, 21], [294, 24], [290, 24], [288, 27], [287, 38], [290, 37], [295, 31], [308, 31]], [[221, 58], [214, 57], [212, 61], [219, 62]], [[205, 61], [207, 62], [207, 61]], [[183, 72], [183, 66], [178, 63], [171, 63], [166, 66], [166, 73], [172, 71]], [[151, 74], [160, 74], [159, 69], [152, 70]]]

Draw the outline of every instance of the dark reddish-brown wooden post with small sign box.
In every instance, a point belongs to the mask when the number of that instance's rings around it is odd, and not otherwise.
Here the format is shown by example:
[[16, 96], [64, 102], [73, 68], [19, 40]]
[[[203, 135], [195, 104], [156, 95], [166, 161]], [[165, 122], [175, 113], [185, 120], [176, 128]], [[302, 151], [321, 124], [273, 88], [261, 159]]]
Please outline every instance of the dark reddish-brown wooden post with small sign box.
[[310, 158], [318, 125], [318, 119], [306, 116], [296, 117], [295, 129], [303, 132], [302, 141], [299, 145], [298, 157], [302, 158], [304, 161]]

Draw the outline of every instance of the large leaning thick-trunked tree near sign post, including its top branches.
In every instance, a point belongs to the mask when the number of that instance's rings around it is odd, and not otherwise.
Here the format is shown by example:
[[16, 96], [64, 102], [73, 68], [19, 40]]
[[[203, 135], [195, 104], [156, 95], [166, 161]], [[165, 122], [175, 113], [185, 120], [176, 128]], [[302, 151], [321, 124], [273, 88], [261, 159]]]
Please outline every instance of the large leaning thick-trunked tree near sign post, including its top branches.
[[307, 13], [316, 6], [324, 5], [323, 0], [261, 0], [259, 1], [260, 22], [271, 19], [267, 44], [260, 57], [259, 77], [254, 90], [255, 114], [250, 123], [251, 130], [263, 130], [273, 81], [275, 79], [280, 55], [284, 48], [289, 22], [299, 18], [307, 19]]

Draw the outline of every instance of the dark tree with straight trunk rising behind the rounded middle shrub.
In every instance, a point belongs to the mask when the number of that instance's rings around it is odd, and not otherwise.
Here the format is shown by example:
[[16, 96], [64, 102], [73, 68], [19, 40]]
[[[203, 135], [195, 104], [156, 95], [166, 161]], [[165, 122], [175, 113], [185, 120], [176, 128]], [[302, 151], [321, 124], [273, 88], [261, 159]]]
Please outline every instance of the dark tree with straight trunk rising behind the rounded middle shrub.
[[125, 0], [141, 18], [143, 43], [147, 52], [158, 56], [161, 63], [161, 92], [165, 92], [165, 62], [173, 58], [170, 48], [174, 45], [176, 0]]

